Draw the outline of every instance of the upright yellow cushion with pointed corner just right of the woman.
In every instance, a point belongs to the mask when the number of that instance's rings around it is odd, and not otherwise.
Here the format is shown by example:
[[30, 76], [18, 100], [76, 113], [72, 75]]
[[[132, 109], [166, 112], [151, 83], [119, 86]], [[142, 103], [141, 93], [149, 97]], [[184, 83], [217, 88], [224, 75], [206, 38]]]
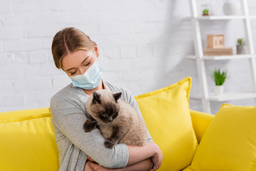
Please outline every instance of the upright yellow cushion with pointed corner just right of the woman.
[[163, 152], [158, 170], [176, 171], [189, 166], [197, 140], [189, 114], [191, 78], [136, 98], [153, 141]]

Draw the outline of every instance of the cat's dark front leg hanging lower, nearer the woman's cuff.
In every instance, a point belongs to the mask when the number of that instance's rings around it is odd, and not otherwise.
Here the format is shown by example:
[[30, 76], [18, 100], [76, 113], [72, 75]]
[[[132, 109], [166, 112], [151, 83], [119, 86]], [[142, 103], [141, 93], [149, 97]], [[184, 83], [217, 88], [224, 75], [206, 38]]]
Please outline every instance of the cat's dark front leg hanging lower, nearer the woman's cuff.
[[112, 135], [106, 138], [104, 143], [106, 149], [112, 149], [117, 143], [125, 136], [124, 130], [120, 130], [120, 127], [114, 126], [112, 129]]

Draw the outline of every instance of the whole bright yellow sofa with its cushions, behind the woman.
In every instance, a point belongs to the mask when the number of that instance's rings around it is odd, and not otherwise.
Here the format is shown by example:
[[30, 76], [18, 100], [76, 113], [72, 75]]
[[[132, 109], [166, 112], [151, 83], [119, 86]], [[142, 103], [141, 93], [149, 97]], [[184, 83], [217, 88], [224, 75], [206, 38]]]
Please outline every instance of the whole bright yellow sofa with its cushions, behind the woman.
[[[163, 152], [159, 171], [256, 171], [256, 106], [189, 109], [192, 79], [135, 99]], [[82, 129], [82, 128], [81, 128]], [[58, 170], [49, 108], [0, 113], [0, 171]]]

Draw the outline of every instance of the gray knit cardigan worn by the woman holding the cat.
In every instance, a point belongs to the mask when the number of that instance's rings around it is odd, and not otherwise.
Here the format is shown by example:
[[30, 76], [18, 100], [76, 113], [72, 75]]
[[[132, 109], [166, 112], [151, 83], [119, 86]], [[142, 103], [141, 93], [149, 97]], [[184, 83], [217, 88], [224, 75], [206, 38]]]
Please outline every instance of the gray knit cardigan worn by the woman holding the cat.
[[[124, 87], [103, 81], [107, 90], [122, 92], [122, 99], [131, 104], [142, 117], [138, 103]], [[51, 98], [51, 114], [54, 134], [59, 149], [60, 171], [82, 171], [89, 155], [106, 168], [124, 168], [128, 162], [129, 151], [125, 144], [119, 143], [113, 149], [104, 147], [105, 139], [98, 129], [90, 133], [83, 130], [86, 122], [86, 101], [83, 89], [67, 85]], [[148, 133], [148, 142], [152, 142]]]

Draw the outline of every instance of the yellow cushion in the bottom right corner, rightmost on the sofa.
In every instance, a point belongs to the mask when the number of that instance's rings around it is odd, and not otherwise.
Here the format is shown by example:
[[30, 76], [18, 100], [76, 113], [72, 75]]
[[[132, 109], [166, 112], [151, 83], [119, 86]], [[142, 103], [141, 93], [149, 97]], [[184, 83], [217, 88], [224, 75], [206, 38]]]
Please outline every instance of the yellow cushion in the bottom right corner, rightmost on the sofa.
[[256, 106], [222, 104], [186, 171], [256, 169]]

